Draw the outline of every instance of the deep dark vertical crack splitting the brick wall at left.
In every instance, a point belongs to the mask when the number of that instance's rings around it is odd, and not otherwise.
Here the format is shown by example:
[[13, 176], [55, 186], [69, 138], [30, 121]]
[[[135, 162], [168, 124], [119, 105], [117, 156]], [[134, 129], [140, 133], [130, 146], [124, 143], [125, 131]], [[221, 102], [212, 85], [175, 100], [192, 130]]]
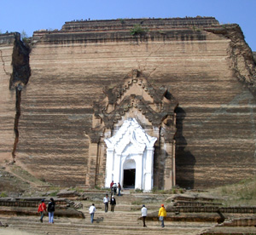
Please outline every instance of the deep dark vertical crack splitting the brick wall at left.
[[20, 33], [15, 33], [15, 45], [12, 55], [13, 73], [9, 81], [9, 89], [15, 89], [16, 101], [15, 101], [15, 142], [12, 151], [13, 162], [15, 163], [16, 149], [19, 142], [19, 121], [20, 121], [20, 104], [21, 104], [21, 92], [24, 86], [28, 83], [31, 76], [31, 70], [29, 66], [29, 53], [30, 49], [27, 45], [24, 45], [20, 41]]

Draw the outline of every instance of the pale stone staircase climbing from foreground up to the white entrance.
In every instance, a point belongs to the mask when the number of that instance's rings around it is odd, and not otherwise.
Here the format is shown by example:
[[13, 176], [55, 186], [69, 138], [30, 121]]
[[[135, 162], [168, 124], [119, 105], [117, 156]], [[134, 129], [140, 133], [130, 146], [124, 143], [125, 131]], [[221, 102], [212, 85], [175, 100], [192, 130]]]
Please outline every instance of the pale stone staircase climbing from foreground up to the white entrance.
[[[102, 197], [104, 194], [102, 194]], [[146, 221], [147, 227], [143, 227], [140, 209], [142, 204], [147, 201], [147, 196], [143, 193], [131, 195], [130, 192], [121, 197], [115, 197], [117, 205], [115, 211], [104, 212], [102, 200], [83, 201], [83, 209], [79, 209], [85, 215], [85, 219], [56, 217], [55, 223], [48, 223], [48, 216], [44, 216], [44, 223], [40, 223], [38, 216], [10, 216], [0, 215], [0, 221], [8, 224], [8, 227], [0, 228], [0, 234], [199, 234], [205, 229], [214, 225], [212, 222], [180, 222], [166, 221], [165, 227], [160, 227], [160, 221]], [[95, 221], [90, 223], [89, 207], [91, 203], [96, 205]], [[145, 203], [148, 213], [158, 211], [160, 203]], [[2, 233], [1, 233], [2, 232]], [[16, 232], [16, 233], [15, 233]], [[23, 232], [23, 233], [19, 233]]]

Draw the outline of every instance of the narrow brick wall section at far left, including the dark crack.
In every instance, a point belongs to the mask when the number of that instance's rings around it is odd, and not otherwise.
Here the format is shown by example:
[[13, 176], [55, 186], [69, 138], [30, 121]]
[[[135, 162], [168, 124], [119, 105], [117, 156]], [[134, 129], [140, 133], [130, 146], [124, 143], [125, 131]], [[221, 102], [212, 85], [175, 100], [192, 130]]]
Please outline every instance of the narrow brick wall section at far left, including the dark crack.
[[20, 33], [0, 34], [0, 163], [15, 162], [20, 94], [30, 77], [28, 54]]

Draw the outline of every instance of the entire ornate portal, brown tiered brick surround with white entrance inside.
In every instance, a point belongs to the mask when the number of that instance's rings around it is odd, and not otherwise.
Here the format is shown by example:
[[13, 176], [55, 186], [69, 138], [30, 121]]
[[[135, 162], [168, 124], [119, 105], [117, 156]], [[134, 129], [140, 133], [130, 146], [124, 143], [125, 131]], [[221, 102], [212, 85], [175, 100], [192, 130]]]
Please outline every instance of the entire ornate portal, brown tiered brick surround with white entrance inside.
[[121, 186], [150, 191], [175, 186], [177, 100], [164, 86], [155, 88], [132, 70], [115, 86], [102, 89], [93, 104], [85, 185]]

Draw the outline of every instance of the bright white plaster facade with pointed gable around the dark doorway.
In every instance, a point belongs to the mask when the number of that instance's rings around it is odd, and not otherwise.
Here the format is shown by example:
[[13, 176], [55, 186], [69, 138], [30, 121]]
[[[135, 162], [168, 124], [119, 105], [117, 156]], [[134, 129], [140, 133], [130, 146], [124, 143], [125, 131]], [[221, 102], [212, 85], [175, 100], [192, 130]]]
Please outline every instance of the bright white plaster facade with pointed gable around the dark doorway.
[[105, 186], [111, 181], [124, 182], [124, 170], [136, 169], [135, 188], [153, 188], [154, 142], [135, 118], [125, 120], [117, 133], [105, 139], [107, 149]]

